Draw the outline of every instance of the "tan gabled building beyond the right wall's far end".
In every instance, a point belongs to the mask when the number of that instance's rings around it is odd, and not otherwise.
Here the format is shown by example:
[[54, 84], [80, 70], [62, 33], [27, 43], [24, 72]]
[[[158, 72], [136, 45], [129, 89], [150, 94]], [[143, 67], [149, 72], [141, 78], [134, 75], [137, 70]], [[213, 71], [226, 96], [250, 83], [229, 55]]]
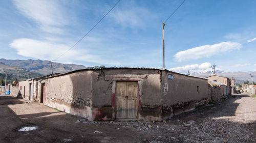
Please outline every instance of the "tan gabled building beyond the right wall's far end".
[[224, 83], [226, 85], [227, 95], [236, 93], [236, 88], [234, 87], [234, 78], [229, 79], [228, 77], [212, 75], [212, 76], [206, 77], [206, 79]]

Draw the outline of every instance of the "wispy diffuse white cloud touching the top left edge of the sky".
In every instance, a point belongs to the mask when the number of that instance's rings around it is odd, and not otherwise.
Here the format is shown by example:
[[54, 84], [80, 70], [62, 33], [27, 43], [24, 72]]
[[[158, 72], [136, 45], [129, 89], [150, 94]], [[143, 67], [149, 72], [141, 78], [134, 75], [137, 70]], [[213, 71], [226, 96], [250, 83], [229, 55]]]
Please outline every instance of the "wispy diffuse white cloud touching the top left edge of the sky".
[[68, 24], [68, 16], [63, 14], [57, 1], [13, 0], [13, 3], [20, 13], [37, 22], [46, 32], [63, 33], [57, 26]]

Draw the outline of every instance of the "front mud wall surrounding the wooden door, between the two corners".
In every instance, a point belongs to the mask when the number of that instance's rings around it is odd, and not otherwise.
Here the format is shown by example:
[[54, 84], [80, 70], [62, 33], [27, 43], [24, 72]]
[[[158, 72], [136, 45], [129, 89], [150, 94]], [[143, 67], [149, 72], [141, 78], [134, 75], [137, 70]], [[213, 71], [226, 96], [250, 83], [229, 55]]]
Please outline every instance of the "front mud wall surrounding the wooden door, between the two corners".
[[161, 120], [161, 87], [159, 70], [102, 69], [92, 72], [93, 118], [115, 118], [115, 85], [117, 81], [138, 82], [138, 120]]

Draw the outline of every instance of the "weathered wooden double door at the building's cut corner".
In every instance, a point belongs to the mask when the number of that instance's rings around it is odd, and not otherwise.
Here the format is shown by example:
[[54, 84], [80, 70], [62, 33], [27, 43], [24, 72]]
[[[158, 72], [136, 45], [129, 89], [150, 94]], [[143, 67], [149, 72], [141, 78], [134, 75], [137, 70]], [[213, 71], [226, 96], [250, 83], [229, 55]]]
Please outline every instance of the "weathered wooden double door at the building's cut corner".
[[116, 81], [116, 119], [137, 119], [138, 82]]

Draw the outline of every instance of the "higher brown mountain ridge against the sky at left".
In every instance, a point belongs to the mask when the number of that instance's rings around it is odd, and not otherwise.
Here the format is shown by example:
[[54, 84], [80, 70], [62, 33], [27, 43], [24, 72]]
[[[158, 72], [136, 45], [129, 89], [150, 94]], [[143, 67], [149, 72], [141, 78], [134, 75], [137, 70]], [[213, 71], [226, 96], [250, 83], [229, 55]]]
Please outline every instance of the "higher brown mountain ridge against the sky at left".
[[[41, 61], [41, 60], [6, 60], [0, 59], [0, 62], [4, 63], [7, 66], [16, 66], [24, 68], [26, 70], [31, 70], [38, 72], [40, 74], [51, 74], [50, 61]], [[61, 64], [52, 62], [52, 68], [54, 73], [66, 73], [74, 70], [86, 68], [83, 65], [76, 64]]]

